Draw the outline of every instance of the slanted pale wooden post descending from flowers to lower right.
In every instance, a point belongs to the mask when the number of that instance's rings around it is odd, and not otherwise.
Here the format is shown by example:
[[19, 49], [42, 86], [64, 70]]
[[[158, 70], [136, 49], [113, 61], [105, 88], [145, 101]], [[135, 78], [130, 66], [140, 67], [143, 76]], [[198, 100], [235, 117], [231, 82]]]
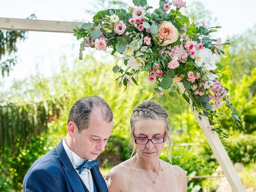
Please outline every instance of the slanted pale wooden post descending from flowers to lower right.
[[[185, 88], [181, 82], [178, 82], [178, 86], [180, 87], [180, 90], [182, 92], [185, 92]], [[244, 186], [224, 148], [222, 145], [222, 142], [220, 141], [220, 138], [216, 131], [212, 131], [211, 128], [214, 128], [210, 125], [209, 119], [206, 116], [201, 116], [202, 121], [198, 118], [198, 112], [193, 110], [192, 101], [190, 100], [190, 109], [192, 110], [194, 116], [196, 117], [196, 120], [202, 129], [202, 132], [204, 133], [204, 136], [206, 137], [206, 140], [208, 141], [208, 144], [210, 145], [210, 148], [212, 149], [212, 152], [214, 156], [216, 157], [218, 163], [220, 164], [220, 167], [222, 168], [233, 192], [245, 192]]]

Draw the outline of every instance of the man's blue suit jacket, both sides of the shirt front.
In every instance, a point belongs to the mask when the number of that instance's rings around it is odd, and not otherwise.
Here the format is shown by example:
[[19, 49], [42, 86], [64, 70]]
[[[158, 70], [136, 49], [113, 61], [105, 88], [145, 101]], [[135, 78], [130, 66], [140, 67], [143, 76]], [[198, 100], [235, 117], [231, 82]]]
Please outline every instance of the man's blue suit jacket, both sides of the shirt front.
[[[106, 182], [98, 165], [90, 169], [94, 181], [94, 189], [108, 192]], [[85, 188], [86, 192], [89, 192]], [[82, 192], [83, 184], [70, 162], [62, 141], [56, 148], [36, 160], [26, 173], [23, 180], [24, 192]], [[94, 190], [95, 191], [95, 190]]]

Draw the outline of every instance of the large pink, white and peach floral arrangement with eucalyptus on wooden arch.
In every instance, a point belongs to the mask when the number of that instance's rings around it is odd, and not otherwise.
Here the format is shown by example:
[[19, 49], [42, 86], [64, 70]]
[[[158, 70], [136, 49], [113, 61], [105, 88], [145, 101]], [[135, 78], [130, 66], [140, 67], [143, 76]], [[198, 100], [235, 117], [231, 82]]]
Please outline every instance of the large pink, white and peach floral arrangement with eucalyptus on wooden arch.
[[[140, 73], [146, 71], [147, 80], [156, 84], [154, 90], [159, 102], [166, 102], [166, 94], [178, 98], [180, 90], [173, 82], [181, 82], [186, 88], [184, 99], [188, 103], [191, 99], [194, 110], [208, 116], [210, 124], [218, 123], [218, 114], [225, 115], [220, 109], [224, 104], [232, 111], [235, 125], [239, 124], [228, 89], [220, 84], [228, 80], [223, 73], [225, 64], [216, 62], [214, 56], [224, 54], [220, 46], [229, 43], [210, 38], [210, 33], [220, 26], [207, 28], [204, 22], [190, 23], [180, 12], [186, 8], [182, 0], [160, 0], [160, 7], [152, 13], [146, 0], [133, 0], [133, 3], [134, 7], [128, 7], [128, 11], [100, 11], [92, 23], [74, 29], [74, 36], [78, 40], [82, 38], [79, 59], [87, 47], [102, 51], [110, 48], [112, 55], [118, 52], [118, 60], [124, 61], [113, 67], [114, 73], [120, 73], [116, 79], [119, 87], [123, 84], [126, 90], [132, 82], [138, 85]], [[164, 108], [168, 110], [168, 106]], [[214, 130], [220, 138], [228, 137], [221, 128]]]

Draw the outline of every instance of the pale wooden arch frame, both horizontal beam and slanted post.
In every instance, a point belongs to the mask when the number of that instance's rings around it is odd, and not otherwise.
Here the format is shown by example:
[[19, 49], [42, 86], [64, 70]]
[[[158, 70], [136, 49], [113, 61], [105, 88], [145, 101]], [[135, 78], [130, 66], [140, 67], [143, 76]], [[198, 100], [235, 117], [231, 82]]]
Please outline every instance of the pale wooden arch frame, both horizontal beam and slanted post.
[[[24, 31], [43, 31], [43, 32], [59, 32], [73, 33], [73, 28], [81, 26], [81, 22], [63, 22], [63, 21], [46, 21], [46, 20], [29, 20], [29, 19], [14, 19], [0, 18], [0, 29], [6, 30], [24, 30]], [[178, 86], [182, 92], [185, 88], [182, 83], [178, 82]], [[192, 103], [192, 102], [190, 102]], [[193, 110], [191, 104], [190, 109], [193, 111], [197, 122], [202, 129], [206, 140], [208, 141], [212, 152], [214, 153], [218, 163], [220, 164], [228, 182], [234, 192], [245, 192], [244, 186], [230, 160], [228, 154], [215, 131], [212, 131], [209, 119], [206, 116], [201, 116], [202, 121], [198, 118], [198, 113]]]

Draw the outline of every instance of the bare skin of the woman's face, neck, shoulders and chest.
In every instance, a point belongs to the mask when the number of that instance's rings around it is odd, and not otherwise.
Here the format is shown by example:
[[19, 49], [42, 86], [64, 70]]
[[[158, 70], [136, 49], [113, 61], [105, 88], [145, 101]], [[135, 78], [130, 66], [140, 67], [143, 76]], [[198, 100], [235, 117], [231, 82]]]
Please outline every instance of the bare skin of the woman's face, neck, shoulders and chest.
[[[164, 133], [163, 120], [146, 119], [135, 123], [136, 137], [162, 137]], [[149, 141], [140, 145], [135, 144], [134, 140], [133, 143], [136, 155], [115, 166], [108, 173], [112, 180], [109, 192], [186, 192], [187, 180], [184, 170], [159, 159], [164, 143], [153, 144]]]

